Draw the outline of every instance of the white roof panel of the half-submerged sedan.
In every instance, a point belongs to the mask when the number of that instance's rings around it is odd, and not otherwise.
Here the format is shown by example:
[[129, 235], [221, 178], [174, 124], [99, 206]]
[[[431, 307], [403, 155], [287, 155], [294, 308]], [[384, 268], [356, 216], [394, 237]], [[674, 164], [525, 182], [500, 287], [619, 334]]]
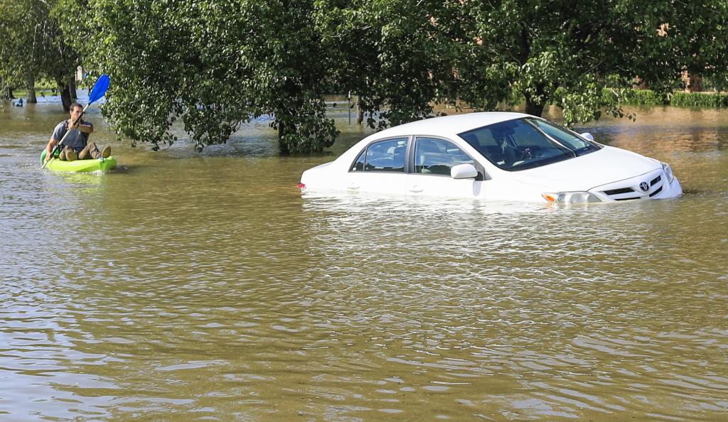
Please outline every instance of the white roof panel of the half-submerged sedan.
[[447, 137], [489, 124], [507, 122], [508, 120], [534, 117], [530, 114], [487, 111], [483, 113], [453, 114], [451, 116], [432, 117], [431, 119], [400, 124], [373, 135], [376, 138], [389, 138], [400, 135], [435, 135]]

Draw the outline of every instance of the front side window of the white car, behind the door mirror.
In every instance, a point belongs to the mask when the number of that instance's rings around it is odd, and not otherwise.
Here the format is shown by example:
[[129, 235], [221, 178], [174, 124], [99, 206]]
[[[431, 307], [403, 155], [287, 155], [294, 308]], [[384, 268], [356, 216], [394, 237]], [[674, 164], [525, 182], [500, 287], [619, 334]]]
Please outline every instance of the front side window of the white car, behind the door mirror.
[[417, 138], [414, 146], [414, 172], [424, 175], [450, 175], [457, 164], [473, 164], [470, 156], [448, 140]]

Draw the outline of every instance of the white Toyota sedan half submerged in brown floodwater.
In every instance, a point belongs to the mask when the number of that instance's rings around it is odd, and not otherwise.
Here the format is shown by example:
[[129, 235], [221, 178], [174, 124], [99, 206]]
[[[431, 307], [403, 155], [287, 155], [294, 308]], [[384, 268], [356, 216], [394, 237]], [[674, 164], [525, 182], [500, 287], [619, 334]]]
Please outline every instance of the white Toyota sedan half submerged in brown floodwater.
[[520, 113], [401, 124], [306, 170], [306, 191], [528, 202], [614, 202], [682, 194], [669, 164]]

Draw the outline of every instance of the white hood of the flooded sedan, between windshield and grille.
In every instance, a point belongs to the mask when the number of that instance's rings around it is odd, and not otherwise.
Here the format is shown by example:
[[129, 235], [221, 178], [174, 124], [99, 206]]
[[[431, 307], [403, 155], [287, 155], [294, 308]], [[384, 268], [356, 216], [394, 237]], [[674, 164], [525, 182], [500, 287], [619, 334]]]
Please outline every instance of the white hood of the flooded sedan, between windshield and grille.
[[659, 170], [660, 162], [621, 148], [599, 151], [543, 167], [514, 172], [518, 180], [555, 191], [588, 191], [596, 186]]

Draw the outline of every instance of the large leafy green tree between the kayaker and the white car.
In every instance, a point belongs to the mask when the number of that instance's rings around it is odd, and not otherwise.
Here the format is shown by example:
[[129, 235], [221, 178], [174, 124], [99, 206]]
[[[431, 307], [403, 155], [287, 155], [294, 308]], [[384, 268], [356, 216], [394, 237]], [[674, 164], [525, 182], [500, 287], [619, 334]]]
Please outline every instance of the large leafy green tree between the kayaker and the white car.
[[171, 144], [181, 120], [195, 147], [272, 116], [282, 153], [331, 146], [329, 55], [303, 0], [90, 0], [87, 60], [113, 85], [103, 109], [119, 135]]

